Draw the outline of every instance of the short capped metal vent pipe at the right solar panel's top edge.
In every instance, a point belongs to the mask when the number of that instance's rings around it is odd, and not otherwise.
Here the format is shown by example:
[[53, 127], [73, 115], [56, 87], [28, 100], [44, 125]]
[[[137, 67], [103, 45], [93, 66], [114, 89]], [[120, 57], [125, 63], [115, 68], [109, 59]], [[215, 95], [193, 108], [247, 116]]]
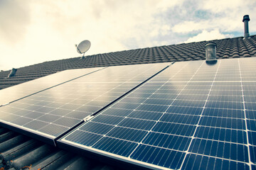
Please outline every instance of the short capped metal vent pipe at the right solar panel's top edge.
[[215, 42], [209, 42], [206, 44], [206, 63], [207, 64], [215, 64], [217, 62], [216, 59], [216, 44]]

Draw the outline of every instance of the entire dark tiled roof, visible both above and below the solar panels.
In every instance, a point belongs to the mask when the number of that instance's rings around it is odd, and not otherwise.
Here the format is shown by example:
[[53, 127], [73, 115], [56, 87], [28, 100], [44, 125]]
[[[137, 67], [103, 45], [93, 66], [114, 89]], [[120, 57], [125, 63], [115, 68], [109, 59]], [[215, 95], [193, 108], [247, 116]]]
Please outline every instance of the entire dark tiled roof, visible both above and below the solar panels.
[[[249, 39], [228, 38], [213, 40], [217, 44], [218, 59], [256, 57], [256, 35]], [[10, 71], [0, 72], [0, 89], [21, 84], [65, 69], [103, 67], [123, 64], [146, 64], [157, 62], [182, 62], [205, 60], [207, 41], [188, 44], [150, 47], [121, 52], [110, 52], [67, 60], [43, 62], [19, 68], [15, 77], [6, 79]], [[0, 128], [0, 168], [4, 169], [119, 169], [106, 162], [82, 157], [39, 142], [25, 135]], [[86, 163], [85, 163], [86, 162]], [[27, 166], [27, 167], [26, 167]]]

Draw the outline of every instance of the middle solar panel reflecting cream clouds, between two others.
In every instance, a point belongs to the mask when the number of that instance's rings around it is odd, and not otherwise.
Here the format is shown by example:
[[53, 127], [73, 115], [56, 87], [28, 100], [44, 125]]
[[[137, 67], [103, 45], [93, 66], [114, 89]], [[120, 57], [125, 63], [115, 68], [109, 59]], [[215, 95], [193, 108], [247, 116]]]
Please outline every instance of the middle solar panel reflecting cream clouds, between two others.
[[169, 64], [102, 69], [1, 107], [0, 122], [55, 139]]

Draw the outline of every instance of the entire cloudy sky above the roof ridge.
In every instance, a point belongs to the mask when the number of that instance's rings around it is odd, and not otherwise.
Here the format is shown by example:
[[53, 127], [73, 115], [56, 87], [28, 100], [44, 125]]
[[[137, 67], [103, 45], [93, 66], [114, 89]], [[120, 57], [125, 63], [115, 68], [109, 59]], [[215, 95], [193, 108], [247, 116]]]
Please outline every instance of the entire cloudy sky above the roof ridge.
[[0, 70], [85, 55], [240, 37], [255, 0], [0, 0]]

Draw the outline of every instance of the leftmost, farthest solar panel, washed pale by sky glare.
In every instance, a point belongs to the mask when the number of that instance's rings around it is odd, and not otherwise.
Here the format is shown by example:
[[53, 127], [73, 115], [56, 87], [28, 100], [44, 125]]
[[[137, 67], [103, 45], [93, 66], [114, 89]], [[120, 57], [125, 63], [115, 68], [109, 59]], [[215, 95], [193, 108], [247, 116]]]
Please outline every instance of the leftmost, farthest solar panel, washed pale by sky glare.
[[23, 84], [18, 84], [17, 86], [11, 86], [0, 91], [0, 96], [4, 96], [0, 98], [0, 106], [37, 93], [38, 91], [43, 91], [52, 86], [62, 84], [65, 81], [70, 81], [71, 79], [90, 74], [100, 69], [102, 69], [102, 67], [88, 69], [68, 69], [63, 72], [50, 74], [46, 77], [41, 77], [39, 79], [28, 81]]

